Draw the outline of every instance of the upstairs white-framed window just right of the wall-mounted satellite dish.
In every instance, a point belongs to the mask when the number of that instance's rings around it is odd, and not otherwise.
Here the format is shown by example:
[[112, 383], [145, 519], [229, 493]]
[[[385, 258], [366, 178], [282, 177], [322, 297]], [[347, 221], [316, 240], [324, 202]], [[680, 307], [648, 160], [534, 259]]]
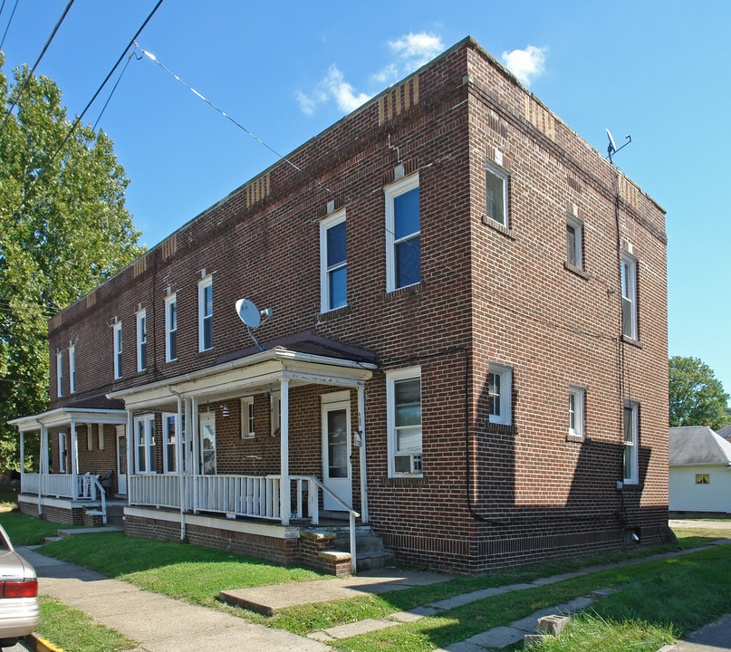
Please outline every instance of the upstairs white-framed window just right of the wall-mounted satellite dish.
[[345, 245], [345, 211], [320, 223], [321, 312], [348, 302], [348, 259]]

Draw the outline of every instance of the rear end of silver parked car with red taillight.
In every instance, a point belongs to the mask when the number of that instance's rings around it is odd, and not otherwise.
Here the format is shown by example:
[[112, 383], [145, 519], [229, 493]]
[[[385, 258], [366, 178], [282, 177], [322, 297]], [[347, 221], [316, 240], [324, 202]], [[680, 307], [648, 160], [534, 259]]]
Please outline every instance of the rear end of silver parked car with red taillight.
[[11, 647], [38, 627], [41, 604], [33, 566], [13, 548], [0, 525], [0, 648]]

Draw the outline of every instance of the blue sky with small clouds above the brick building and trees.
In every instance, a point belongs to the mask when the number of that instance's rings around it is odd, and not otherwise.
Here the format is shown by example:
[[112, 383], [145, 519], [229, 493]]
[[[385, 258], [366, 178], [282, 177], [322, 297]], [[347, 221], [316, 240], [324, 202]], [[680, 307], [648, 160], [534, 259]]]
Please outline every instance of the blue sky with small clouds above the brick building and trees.
[[[13, 5], [5, 1], [0, 37]], [[35, 61], [65, 5], [18, 0], [5, 74]], [[75, 0], [37, 70], [59, 84], [71, 113], [154, 5]], [[472, 35], [528, 74], [531, 91], [602, 153], [605, 128], [618, 147], [632, 135], [615, 163], [668, 210], [669, 353], [701, 358], [731, 391], [729, 24], [722, 0], [165, 0], [139, 45], [286, 154]], [[85, 121], [97, 120], [107, 95]], [[100, 126], [130, 177], [127, 207], [147, 245], [276, 160], [149, 58], [130, 62]]]

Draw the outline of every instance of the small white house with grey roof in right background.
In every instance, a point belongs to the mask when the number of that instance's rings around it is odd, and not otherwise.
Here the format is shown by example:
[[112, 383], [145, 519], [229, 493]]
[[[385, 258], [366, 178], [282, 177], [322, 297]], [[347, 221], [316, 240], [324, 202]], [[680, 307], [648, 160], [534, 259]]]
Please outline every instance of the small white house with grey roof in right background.
[[669, 428], [670, 512], [731, 513], [731, 442], [707, 426]]

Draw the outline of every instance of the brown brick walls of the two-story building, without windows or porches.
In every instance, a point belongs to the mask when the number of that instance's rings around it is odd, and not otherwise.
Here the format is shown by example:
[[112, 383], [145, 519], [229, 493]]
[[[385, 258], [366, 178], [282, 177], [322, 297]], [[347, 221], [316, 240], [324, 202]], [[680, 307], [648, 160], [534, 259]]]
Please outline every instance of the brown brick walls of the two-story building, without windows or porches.
[[[409, 81], [383, 97], [390, 104], [372, 101], [293, 152], [293, 162], [322, 186], [276, 164], [261, 184], [264, 177], [182, 226], [175, 247], [168, 240], [153, 248], [144, 264], [55, 318], [51, 350], [76, 342], [77, 396], [171, 379], [244, 350], [251, 342], [233, 305], [245, 296], [274, 309], [259, 340], [313, 331], [378, 356], [366, 388], [370, 519], [401, 559], [486, 570], [618, 546], [626, 530], [640, 526], [658, 532], [668, 493], [662, 209], [472, 42], [418, 72], [418, 85]], [[495, 148], [510, 174], [507, 231], [483, 220], [485, 166]], [[421, 283], [387, 293], [383, 187], [399, 164], [419, 175]], [[320, 314], [318, 221], [330, 201], [347, 211], [348, 306]], [[565, 218], [574, 206], [584, 224], [582, 273], [564, 265]], [[618, 243], [630, 243], [639, 260], [639, 342], [620, 336]], [[214, 350], [199, 353], [204, 268], [213, 273]], [[170, 363], [168, 288], [178, 292], [178, 360]], [[142, 373], [139, 304], [149, 322]], [[123, 324], [120, 380], [112, 378], [115, 318]], [[513, 369], [511, 427], [488, 423], [491, 361]], [[416, 364], [424, 476], [393, 479], [385, 373]], [[55, 397], [54, 373], [51, 382]], [[570, 384], [586, 391], [582, 443], [566, 440]], [[321, 472], [322, 391], [292, 390], [295, 475]], [[640, 484], [620, 496], [625, 398], [641, 406]], [[53, 407], [72, 399], [66, 393]], [[355, 423], [354, 393], [352, 401]], [[266, 395], [255, 397], [254, 440], [239, 438], [238, 399], [227, 403], [228, 419], [220, 404], [210, 406], [218, 472], [277, 473], [279, 439], [270, 435]], [[354, 469], [357, 455], [353, 448]]]

